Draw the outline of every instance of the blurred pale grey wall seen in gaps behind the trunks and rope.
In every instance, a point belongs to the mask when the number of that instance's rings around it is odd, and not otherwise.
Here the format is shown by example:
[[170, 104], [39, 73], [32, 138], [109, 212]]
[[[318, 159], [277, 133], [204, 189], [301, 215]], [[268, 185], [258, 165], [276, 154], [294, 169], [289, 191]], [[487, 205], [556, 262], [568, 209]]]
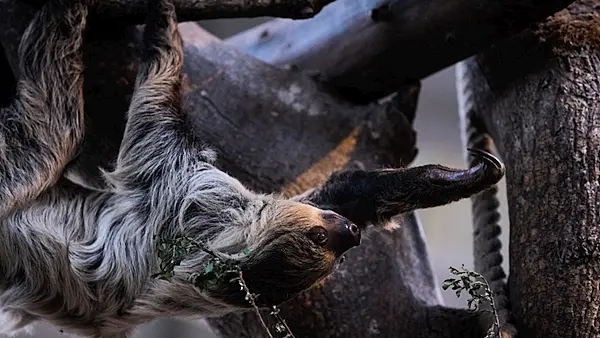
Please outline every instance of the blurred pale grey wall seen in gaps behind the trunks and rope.
[[[261, 22], [261, 19], [213, 20], [203, 26], [219, 37], [227, 37], [235, 32]], [[454, 68], [445, 69], [423, 81], [423, 88], [417, 111], [416, 129], [420, 150], [416, 165], [440, 163], [463, 167], [462, 143], [457, 114]], [[505, 200], [504, 180], [500, 185], [503, 227], [502, 241], [508, 243], [508, 221]], [[472, 268], [472, 230], [470, 201], [463, 200], [447, 206], [420, 210], [418, 212], [438, 280], [449, 277], [449, 266], [464, 264]], [[508, 267], [508, 247], [505, 244], [504, 266]], [[442, 291], [446, 304], [464, 307], [466, 299], [457, 299], [451, 291]], [[157, 320], [143, 325], [138, 337], [158, 338], [213, 338], [215, 337], [203, 321], [188, 322], [179, 320]], [[29, 335], [20, 335], [28, 337]], [[41, 324], [30, 337], [64, 337], [50, 325]], [[3, 338], [3, 337], [0, 337]]]

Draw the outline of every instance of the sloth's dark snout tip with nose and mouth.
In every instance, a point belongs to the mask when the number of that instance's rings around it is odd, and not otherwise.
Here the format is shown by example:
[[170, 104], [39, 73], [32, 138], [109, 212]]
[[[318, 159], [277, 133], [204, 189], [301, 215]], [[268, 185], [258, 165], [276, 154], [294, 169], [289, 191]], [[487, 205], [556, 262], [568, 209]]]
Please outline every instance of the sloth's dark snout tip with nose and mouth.
[[329, 210], [323, 211], [323, 219], [329, 238], [326, 247], [336, 256], [360, 244], [360, 228], [349, 219]]

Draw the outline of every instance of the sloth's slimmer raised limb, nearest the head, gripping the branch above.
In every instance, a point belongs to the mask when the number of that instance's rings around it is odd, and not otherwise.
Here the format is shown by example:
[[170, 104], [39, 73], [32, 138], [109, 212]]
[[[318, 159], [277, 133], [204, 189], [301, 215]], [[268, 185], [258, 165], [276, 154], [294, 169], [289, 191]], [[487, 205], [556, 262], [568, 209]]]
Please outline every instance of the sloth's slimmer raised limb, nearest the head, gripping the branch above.
[[123, 142], [116, 169], [108, 174], [125, 190], [146, 189], [212, 158], [186, 129], [181, 110], [183, 51], [172, 0], [150, 0], [149, 6]]

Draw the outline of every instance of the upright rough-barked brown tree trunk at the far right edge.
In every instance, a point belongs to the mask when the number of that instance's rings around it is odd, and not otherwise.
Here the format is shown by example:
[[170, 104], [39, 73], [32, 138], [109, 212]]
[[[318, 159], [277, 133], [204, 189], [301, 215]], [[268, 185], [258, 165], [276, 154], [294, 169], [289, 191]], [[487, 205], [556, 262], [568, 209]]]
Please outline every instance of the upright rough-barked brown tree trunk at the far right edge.
[[509, 292], [522, 337], [600, 335], [600, 1], [459, 65], [462, 111], [507, 166]]

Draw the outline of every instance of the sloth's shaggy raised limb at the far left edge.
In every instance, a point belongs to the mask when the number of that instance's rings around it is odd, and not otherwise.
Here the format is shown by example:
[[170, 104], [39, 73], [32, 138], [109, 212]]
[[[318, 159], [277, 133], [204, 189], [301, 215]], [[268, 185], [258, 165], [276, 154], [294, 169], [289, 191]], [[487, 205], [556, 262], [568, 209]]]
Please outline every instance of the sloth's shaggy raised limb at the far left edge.
[[49, 0], [23, 35], [17, 94], [0, 111], [0, 218], [54, 184], [83, 138], [86, 15], [79, 0]]

